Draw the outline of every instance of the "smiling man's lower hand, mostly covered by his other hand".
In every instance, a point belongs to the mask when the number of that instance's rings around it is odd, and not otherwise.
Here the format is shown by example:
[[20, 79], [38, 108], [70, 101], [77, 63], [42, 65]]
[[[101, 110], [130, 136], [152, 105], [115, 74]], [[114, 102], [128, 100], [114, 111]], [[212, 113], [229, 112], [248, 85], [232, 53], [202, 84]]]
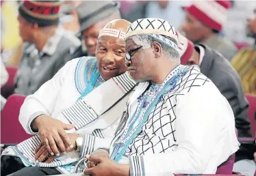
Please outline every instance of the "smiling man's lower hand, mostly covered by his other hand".
[[[71, 142], [73, 143], [73, 146], [75, 146], [75, 141], [77, 140], [78, 134], [68, 134], [68, 137], [71, 138]], [[66, 146], [66, 151], [68, 152], [73, 151], [74, 149], [75, 147], [71, 148], [69, 146]], [[51, 156], [51, 153], [47, 151], [47, 147], [43, 143], [40, 143], [40, 145], [36, 147], [35, 153], [35, 160], [37, 162], [51, 163], [55, 158], [55, 156]]]

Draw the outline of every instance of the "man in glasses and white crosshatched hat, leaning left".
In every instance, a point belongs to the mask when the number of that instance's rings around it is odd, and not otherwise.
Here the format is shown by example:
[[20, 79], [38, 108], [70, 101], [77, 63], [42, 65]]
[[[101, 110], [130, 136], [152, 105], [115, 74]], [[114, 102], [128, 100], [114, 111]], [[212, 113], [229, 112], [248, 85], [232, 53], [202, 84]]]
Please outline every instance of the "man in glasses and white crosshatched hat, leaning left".
[[179, 64], [177, 34], [167, 21], [138, 19], [125, 42], [128, 72], [140, 83], [110, 154], [86, 156], [97, 166], [88, 162], [84, 175], [216, 173], [239, 148], [229, 102], [198, 66]]

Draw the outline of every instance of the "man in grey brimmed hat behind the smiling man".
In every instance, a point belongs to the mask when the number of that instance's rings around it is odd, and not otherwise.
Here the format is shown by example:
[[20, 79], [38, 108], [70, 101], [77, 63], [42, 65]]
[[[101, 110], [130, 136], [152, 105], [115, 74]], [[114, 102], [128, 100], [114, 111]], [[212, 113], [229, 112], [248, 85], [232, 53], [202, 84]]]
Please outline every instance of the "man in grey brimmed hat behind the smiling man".
[[77, 48], [73, 58], [94, 56], [99, 31], [114, 19], [121, 19], [118, 3], [114, 1], [82, 1], [77, 6], [80, 38], [82, 45]]

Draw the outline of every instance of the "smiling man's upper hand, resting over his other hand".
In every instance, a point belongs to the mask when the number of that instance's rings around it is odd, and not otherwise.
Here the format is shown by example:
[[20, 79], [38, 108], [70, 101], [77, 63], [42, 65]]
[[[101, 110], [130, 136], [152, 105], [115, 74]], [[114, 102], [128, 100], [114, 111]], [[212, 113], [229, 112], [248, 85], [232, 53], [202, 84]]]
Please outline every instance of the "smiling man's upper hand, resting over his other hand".
[[[53, 119], [49, 115], [40, 115], [32, 122], [32, 129], [38, 131], [42, 142], [46, 145], [51, 156], [60, 156], [60, 151], [66, 151], [66, 145], [73, 148], [71, 139], [65, 130], [71, 130], [74, 125]], [[59, 148], [60, 151], [57, 149]]]

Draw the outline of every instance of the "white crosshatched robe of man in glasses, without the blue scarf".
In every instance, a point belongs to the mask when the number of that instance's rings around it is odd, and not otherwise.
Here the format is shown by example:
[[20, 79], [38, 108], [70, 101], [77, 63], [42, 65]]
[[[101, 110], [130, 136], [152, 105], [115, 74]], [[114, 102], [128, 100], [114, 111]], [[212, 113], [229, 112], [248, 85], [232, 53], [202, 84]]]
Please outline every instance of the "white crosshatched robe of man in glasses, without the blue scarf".
[[[122, 128], [110, 145], [112, 159], [114, 145], [148, 86], [140, 83], [129, 98], [129, 117], [121, 119]], [[193, 65], [153, 108], [119, 162], [129, 163], [130, 175], [209, 174], [216, 173], [239, 145], [229, 102]]]

